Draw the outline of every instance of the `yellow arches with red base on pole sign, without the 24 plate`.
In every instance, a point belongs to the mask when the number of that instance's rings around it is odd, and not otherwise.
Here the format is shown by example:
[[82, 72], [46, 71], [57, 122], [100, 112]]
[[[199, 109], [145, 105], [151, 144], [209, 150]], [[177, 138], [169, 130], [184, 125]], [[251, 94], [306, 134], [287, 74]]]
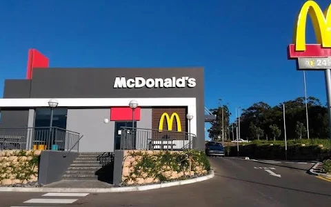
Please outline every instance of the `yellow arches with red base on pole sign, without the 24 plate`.
[[[312, 19], [316, 43], [306, 44], [305, 26]], [[331, 4], [325, 12], [315, 1], [303, 3], [294, 23], [293, 43], [288, 46], [288, 59], [331, 56]]]

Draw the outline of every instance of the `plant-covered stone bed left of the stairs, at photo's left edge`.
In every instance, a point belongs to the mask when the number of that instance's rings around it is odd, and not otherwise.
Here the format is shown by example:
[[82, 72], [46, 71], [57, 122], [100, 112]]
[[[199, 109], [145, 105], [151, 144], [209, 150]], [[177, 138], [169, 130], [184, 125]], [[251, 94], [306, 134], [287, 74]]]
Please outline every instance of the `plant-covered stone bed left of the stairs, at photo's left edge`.
[[37, 181], [41, 151], [0, 151], [0, 184], [28, 184]]

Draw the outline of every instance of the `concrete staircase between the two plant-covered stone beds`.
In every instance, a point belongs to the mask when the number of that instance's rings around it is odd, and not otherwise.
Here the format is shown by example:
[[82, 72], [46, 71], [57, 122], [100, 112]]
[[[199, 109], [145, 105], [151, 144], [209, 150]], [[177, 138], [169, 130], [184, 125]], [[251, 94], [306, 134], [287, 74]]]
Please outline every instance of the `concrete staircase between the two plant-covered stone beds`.
[[62, 179], [110, 181], [113, 163], [112, 152], [81, 152], [66, 170]]

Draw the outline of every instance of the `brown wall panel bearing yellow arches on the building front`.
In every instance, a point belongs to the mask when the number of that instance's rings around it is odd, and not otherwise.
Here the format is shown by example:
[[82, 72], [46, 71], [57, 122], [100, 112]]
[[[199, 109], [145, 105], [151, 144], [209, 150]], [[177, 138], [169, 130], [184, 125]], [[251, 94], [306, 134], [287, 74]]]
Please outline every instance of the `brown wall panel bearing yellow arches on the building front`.
[[172, 130], [178, 132], [186, 131], [186, 108], [153, 108], [152, 128]]

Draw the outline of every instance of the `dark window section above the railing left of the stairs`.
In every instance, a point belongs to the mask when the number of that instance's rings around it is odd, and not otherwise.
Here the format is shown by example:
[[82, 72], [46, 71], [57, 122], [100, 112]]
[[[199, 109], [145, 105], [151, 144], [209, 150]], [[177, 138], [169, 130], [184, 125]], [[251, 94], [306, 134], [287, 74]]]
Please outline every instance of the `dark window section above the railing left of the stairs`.
[[[54, 108], [52, 126], [67, 128], [67, 108]], [[50, 108], [37, 108], [34, 127], [50, 127]]]

